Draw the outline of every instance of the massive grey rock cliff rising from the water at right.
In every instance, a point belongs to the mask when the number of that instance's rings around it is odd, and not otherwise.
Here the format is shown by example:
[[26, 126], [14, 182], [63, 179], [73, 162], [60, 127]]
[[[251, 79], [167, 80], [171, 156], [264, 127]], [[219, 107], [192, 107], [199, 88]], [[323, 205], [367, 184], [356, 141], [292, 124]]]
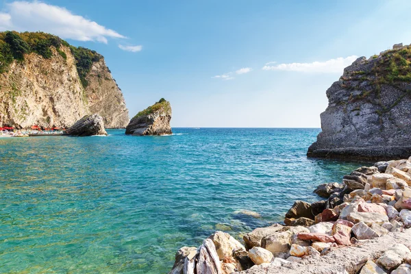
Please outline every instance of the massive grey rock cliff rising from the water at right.
[[362, 160], [411, 155], [411, 46], [358, 58], [327, 90], [322, 132], [309, 157]]

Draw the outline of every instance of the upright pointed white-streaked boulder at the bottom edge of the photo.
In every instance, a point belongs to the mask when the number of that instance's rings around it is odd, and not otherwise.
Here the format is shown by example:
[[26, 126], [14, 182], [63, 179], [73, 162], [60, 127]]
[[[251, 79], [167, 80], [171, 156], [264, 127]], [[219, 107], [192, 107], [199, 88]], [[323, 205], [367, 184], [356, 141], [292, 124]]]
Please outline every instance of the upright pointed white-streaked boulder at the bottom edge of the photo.
[[203, 245], [199, 247], [199, 256], [195, 268], [197, 273], [222, 274], [221, 262], [212, 240], [204, 240]]

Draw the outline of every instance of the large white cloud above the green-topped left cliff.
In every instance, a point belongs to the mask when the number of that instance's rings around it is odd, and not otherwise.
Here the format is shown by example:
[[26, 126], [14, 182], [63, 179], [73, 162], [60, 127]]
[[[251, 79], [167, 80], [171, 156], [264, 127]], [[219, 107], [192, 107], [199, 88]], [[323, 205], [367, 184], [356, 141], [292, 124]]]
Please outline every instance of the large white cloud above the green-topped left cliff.
[[14, 1], [5, 4], [5, 12], [0, 14], [0, 29], [3, 30], [41, 31], [64, 39], [103, 43], [107, 43], [108, 38], [125, 38], [112, 29], [107, 29], [57, 5], [38, 1]]

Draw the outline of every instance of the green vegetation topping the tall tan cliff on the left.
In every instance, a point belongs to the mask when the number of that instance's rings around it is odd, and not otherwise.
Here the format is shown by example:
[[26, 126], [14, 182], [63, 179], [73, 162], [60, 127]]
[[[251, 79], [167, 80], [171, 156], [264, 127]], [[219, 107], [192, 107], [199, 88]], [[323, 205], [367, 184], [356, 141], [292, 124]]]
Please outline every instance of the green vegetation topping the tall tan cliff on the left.
[[28, 53], [37, 53], [46, 59], [51, 58], [53, 55], [52, 46], [66, 60], [67, 55], [60, 49], [61, 45], [70, 48], [77, 61], [76, 66], [80, 81], [86, 88], [88, 86], [87, 73], [92, 64], [101, 60], [103, 56], [84, 47], [73, 47], [58, 36], [44, 32], [0, 32], [0, 73], [7, 71], [14, 60], [23, 61], [24, 55]]

